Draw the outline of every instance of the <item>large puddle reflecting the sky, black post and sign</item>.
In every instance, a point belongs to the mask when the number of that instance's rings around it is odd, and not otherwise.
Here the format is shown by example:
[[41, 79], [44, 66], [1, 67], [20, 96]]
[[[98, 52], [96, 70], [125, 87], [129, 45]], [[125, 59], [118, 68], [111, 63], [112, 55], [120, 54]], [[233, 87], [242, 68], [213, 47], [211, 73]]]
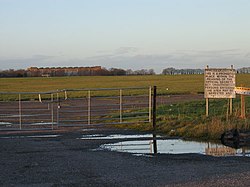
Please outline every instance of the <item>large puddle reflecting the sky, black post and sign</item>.
[[[108, 138], [113, 138], [108, 136]], [[103, 144], [99, 149], [118, 152], [128, 152], [136, 156], [147, 155], [152, 153], [160, 154], [188, 154], [196, 153], [211, 156], [250, 156], [250, 149], [234, 149], [222, 144], [201, 143], [195, 141], [184, 141], [181, 139], [158, 139], [152, 140], [152, 135], [115, 135], [121, 138], [151, 138], [151, 140], [121, 141], [112, 144]], [[98, 137], [96, 139], [107, 139], [107, 137]], [[114, 139], [114, 138], [113, 138]]]

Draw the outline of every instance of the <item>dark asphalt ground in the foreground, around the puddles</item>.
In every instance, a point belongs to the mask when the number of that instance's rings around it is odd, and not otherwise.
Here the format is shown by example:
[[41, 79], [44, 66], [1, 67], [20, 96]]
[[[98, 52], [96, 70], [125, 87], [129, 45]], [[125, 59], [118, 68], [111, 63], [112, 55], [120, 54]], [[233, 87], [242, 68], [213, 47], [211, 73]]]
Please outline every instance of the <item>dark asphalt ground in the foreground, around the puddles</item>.
[[83, 134], [117, 133], [136, 132], [98, 127], [90, 131], [54, 132], [60, 135], [54, 138], [1, 134], [0, 186], [250, 185], [250, 157], [134, 156], [97, 149], [117, 140], [79, 139]]

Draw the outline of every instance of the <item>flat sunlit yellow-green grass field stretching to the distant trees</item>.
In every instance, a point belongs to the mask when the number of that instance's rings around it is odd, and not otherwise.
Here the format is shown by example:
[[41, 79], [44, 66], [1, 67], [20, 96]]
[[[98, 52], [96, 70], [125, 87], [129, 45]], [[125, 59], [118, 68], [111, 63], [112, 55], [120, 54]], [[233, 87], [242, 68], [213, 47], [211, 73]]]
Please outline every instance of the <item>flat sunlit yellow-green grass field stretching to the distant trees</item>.
[[[250, 87], [250, 74], [237, 74], [236, 85]], [[157, 86], [159, 94], [202, 93], [203, 75], [82, 76], [0, 78], [0, 92]], [[167, 90], [168, 88], [168, 90]]]

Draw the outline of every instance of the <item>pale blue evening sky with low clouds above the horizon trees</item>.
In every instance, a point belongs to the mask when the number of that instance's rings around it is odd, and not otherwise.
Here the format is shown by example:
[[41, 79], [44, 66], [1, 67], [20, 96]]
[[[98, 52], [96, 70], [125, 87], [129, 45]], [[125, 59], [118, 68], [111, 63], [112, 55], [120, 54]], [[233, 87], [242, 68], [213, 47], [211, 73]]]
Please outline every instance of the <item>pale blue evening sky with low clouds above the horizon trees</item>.
[[250, 66], [249, 0], [0, 0], [0, 69]]

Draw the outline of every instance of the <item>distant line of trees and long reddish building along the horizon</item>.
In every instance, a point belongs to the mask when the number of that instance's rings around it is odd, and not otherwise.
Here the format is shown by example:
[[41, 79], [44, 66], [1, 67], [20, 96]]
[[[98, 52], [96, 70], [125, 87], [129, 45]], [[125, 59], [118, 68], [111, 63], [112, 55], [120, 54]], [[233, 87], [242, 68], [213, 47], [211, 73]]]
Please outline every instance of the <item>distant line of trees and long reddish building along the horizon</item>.
[[[250, 67], [236, 70], [237, 73], [250, 73]], [[106, 69], [101, 66], [94, 67], [47, 67], [28, 69], [0, 70], [0, 77], [59, 77], [59, 76], [129, 76], [129, 75], [155, 75], [154, 69]], [[204, 69], [175, 69], [173, 67], [162, 70], [163, 75], [204, 74]]]

